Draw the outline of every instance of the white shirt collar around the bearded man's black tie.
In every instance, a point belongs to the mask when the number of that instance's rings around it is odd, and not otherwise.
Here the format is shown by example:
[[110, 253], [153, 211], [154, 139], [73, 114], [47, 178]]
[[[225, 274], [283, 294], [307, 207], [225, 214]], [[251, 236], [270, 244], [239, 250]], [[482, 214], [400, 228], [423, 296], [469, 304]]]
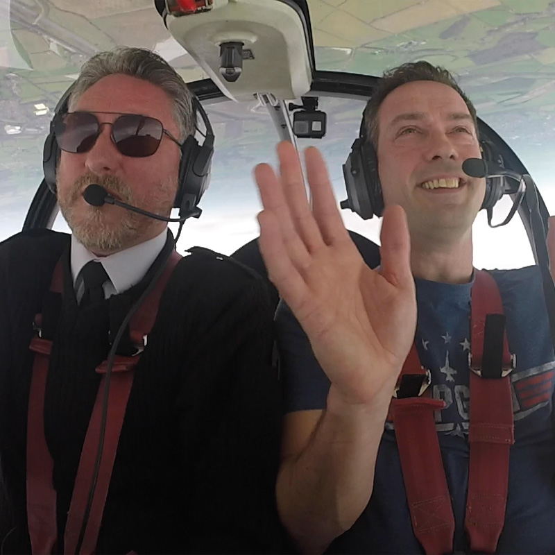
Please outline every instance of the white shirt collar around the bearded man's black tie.
[[119, 250], [112, 255], [97, 257], [74, 235], [71, 235], [71, 277], [74, 280], [74, 286], [81, 268], [90, 260], [96, 260], [104, 266], [116, 293], [123, 293], [142, 280], [148, 268], [152, 266], [164, 248], [166, 237], [167, 230], [164, 230], [160, 235], [148, 239], [144, 243]]

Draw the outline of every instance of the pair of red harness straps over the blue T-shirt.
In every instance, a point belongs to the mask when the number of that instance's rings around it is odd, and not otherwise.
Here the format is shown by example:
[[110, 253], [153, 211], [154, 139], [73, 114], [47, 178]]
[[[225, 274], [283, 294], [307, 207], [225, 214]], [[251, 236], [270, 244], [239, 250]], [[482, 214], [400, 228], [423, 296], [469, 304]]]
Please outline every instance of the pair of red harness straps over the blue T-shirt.
[[[476, 271], [472, 287], [470, 392], [470, 475], [466, 530], [473, 550], [494, 553], [504, 524], [509, 481], [509, 446], [513, 439], [513, 408], [508, 374], [512, 358], [504, 333], [503, 307], [490, 274]], [[493, 315], [493, 316], [492, 316]], [[484, 338], [490, 325], [502, 325], [502, 340]], [[492, 336], [487, 332], [488, 336]], [[499, 347], [499, 348], [497, 348]], [[491, 353], [488, 350], [493, 350]], [[499, 370], [501, 369], [501, 370]], [[495, 372], [499, 375], [495, 375]], [[487, 377], [486, 377], [487, 376]], [[413, 345], [391, 402], [401, 467], [413, 531], [427, 554], [451, 553], [454, 516], [434, 425], [441, 400], [422, 397], [429, 373]]]

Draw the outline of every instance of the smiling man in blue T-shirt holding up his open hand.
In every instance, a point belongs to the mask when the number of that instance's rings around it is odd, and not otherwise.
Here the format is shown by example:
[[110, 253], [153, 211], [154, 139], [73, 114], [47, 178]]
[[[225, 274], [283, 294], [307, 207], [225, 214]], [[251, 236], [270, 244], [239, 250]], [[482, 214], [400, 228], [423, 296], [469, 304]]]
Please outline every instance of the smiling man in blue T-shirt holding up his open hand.
[[290, 144], [278, 176], [256, 170], [261, 250], [287, 302], [282, 521], [305, 553], [552, 553], [547, 311], [538, 268], [472, 266], [486, 182], [461, 165], [481, 155], [475, 109], [416, 62], [379, 80], [364, 129], [385, 205], [376, 270], [316, 149], [312, 209]]

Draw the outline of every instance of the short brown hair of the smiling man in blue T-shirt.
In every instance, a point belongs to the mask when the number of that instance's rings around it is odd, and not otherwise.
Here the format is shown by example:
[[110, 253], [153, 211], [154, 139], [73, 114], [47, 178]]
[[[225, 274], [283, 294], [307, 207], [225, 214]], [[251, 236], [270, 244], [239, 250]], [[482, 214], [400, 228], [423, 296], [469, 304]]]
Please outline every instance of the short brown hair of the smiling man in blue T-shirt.
[[447, 69], [440, 66], [434, 66], [429, 62], [420, 60], [419, 62], [409, 62], [407, 64], [394, 67], [385, 71], [382, 78], [377, 82], [377, 86], [370, 96], [370, 100], [366, 103], [364, 108], [364, 126], [366, 128], [366, 136], [368, 141], [377, 148], [377, 137], [379, 133], [378, 128], [378, 111], [386, 96], [401, 85], [406, 83], [413, 83], [413, 81], [434, 81], [435, 83], [443, 83], [452, 89], [456, 90], [465, 101], [474, 126], [476, 133], [478, 133], [478, 120], [476, 117], [476, 108], [470, 102], [470, 99], [464, 94], [456, 79], [450, 74]]

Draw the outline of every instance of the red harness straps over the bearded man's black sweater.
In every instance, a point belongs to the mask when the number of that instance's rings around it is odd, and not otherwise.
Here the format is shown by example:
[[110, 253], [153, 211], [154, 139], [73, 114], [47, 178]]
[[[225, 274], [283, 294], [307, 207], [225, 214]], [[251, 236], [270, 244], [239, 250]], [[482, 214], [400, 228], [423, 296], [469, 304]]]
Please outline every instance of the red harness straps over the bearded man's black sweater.
[[[133, 357], [116, 356], [114, 359], [108, 394], [108, 414], [103, 453], [94, 496], [90, 504], [90, 513], [86, 523], [83, 543], [80, 548], [81, 554], [92, 554], [99, 536], [105, 500], [108, 495], [110, 478], [119, 443], [119, 434], [121, 433], [129, 393], [133, 384], [133, 372], [128, 370], [133, 370], [139, 361], [140, 353], [146, 345], [146, 337], [151, 332], [156, 319], [160, 297], [173, 268], [180, 258], [180, 255], [173, 251], [154, 289], [130, 320], [131, 341], [133, 341], [134, 345], [141, 345], [137, 355]], [[61, 262], [58, 262], [54, 270], [50, 291], [60, 294], [63, 291]], [[52, 342], [40, 337], [41, 321], [42, 316], [38, 314], [35, 318], [38, 336], [33, 337], [30, 345], [30, 349], [35, 352], [35, 360], [33, 362], [33, 375], [31, 377], [31, 390], [29, 393], [27, 425], [27, 518], [33, 554], [51, 553], [56, 546], [58, 537], [56, 490], [54, 490], [52, 484], [53, 461], [44, 436], [44, 393], [46, 391], [46, 375], [48, 373]], [[80, 531], [83, 528], [83, 520], [85, 519], [87, 496], [94, 475], [94, 463], [99, 447], [107, 366], [107, 361], [104, 361], [96, 368], [96, 371], [103, 373], [103, 376], [96, 395], [85, 442], [83, 443], [74, 493], [71, 497], [65, 529], [65, 553], [67, 554], [76, 552]]]

